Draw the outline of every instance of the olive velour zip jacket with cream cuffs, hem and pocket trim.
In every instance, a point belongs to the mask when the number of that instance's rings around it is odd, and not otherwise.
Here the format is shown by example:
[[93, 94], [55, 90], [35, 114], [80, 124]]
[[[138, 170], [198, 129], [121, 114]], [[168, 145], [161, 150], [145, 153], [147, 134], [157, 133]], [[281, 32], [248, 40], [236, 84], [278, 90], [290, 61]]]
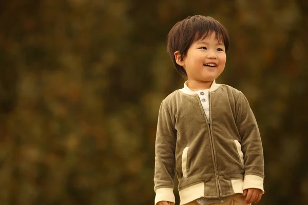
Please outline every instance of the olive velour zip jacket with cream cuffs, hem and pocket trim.
[[155, 146], [155, 204], [175, 202], [175, 174], [180, 204], [200, 197], [227, 197], [248, 188], [264, 193], [262, 142], [246, 97], [214, 81], [209, 109], [208, 121], [198, 94], [186, 83], [162, 101]]

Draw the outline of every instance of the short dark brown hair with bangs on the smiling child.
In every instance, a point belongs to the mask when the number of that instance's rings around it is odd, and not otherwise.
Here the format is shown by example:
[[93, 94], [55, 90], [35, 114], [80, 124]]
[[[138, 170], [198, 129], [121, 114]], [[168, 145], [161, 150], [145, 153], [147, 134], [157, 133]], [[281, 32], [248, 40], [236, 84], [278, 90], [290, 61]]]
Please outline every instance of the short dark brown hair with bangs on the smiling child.
[[192, 43], [204, 39], [215, 32], [216, 38], [223, 43], [226, 52], [229, 48], [229, 36], [227, 30], [216, 19], [209, 16], [195, 15], [178, 22], [169, 31], [167, 40], [167, 51], [176, 67], [176, 70], [183, 76], [187, 77], [184, 68], [177, 64], [174, 53], [179, 51], [183, 60]]

